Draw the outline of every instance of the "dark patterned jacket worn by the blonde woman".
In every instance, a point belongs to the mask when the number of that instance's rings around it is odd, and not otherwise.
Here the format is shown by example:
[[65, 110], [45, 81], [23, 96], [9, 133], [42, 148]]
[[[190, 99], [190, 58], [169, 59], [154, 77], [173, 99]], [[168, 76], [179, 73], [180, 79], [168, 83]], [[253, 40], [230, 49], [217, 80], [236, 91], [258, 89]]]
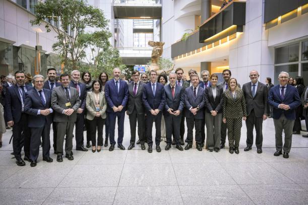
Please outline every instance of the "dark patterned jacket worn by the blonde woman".
[[241, 118], [247, 116], [243, 91], [241, 89], [236, 89], [235, 92], [235, 99], [229, 89], [223, 93], [224, 118]]

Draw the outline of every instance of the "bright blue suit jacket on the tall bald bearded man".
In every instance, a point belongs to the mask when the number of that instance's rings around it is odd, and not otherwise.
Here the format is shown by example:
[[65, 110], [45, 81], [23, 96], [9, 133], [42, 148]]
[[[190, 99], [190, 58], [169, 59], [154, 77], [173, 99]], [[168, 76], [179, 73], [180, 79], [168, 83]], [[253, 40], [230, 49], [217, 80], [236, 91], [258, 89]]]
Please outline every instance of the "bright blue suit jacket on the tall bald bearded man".
[[120, 105], [124, 107], [122, 111], [125, 112], [126, 104], [129, 100], [129, 87], [127, 83], [119, 80], [119, 92], [117, 92], [113, 79], [107, 81], [105, 85], [105, 97], [107, 100], [107, 112], [114, 112], [112, 107], [118, 107]]

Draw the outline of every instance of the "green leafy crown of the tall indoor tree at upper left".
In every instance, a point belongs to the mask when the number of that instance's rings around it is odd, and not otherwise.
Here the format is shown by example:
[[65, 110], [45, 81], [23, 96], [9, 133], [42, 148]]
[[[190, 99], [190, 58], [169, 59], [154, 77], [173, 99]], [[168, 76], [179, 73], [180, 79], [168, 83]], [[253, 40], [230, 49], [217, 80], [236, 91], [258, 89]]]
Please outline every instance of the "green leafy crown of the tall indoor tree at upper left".
[[[110, 37], [108, 20], [101, 10], [88, 5], [84, 0], [47, 0], [39, 1], [35, 7], [36, 18], [31, 20], [33, 25], [40, 25], [43, 21], [60, 22], [55, 26], [46, 24], [47, 32], [51, 29], [57, 34], [57, 42], [53, 50], [64, 60], [67, 70], [77, 69], [83, 58], [84, 51], [89, 45], [108, 47]], [[98, 28], [93, 34], [85, 34], [86, 27]]]

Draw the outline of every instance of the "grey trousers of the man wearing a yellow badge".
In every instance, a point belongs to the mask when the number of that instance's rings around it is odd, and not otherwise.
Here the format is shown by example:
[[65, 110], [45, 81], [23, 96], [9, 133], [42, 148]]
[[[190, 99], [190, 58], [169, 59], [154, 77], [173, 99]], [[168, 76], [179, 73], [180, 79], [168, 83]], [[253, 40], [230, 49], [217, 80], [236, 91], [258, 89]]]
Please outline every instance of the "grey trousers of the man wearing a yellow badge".
[[56, 154], [63, 155], [63, 143], [64, 137], [65, 140], [65, 153], [71, 154], [73, 149], [73, 130], [74, 130], [75, 122], [67, 121], [67, 122], [57, 122], [56, 123]]

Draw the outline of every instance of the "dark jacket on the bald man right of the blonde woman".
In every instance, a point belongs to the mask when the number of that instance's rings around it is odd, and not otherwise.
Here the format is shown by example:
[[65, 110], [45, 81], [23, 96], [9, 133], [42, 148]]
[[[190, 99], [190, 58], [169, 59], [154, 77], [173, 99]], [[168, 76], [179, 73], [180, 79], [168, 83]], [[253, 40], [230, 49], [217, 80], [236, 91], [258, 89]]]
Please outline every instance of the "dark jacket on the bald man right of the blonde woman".
[[243, 93], [246, 102], [247, 115], [254, 109], [256, 117], [263, 117], [267, 115], [267, 98], [268, 98], [268, 88], [265, 84], [258, 82], [258, 87], [256, 88], [256, 95], [253, 98], [252, 83], [245, 83], [243, 85]]

